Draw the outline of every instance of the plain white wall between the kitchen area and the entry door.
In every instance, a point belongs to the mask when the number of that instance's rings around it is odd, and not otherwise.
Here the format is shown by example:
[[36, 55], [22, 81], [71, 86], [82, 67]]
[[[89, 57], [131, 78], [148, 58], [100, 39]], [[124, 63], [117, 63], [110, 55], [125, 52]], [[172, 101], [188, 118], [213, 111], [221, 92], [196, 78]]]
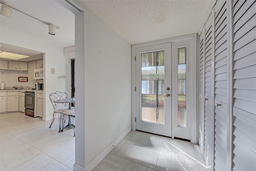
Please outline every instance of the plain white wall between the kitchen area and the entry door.
[[131, 126], [131, 45], [81, 8], [84, 13], [76, 15], [75, 22], [76, 120], [85, 119], [85, 133], [76, 136], [76, 164], [85, 167]]

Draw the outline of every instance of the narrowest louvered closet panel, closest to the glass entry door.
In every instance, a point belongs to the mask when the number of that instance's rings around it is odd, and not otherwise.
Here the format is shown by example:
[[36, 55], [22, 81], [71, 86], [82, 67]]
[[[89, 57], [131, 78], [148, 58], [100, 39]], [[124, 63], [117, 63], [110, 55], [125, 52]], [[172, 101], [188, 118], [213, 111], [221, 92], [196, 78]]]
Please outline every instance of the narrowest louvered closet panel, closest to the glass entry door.
[[204, 154], [204, 29], [200, 35], [200, 76], [199, 76], [199, 139], [202, 154]]

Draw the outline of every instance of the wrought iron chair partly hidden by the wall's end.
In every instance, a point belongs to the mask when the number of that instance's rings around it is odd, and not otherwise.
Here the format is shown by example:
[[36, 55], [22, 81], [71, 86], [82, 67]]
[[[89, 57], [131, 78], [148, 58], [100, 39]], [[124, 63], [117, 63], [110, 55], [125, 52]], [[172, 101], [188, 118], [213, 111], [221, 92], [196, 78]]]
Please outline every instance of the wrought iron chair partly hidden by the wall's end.
[[[75, 133], [76, 133], [75, 132], [75, 125], [74, 125], [74, 117], [76, 115], [75, 96], [73, 97], [72, 101], [73, 101], [73, 104], [74, 104], [74, 108], [62, 111], [62, 131], [64, 129], [67, 129], [67, 128], [73, 128], [74, 136], [75, 136]], [[68, 117], [68, 125], [66, 125], [66, 127], [64, 127], [67, 117]], [[72, 117], [72, 120], [73, 120], [73, 124], [71, 124], [71, 117]]]

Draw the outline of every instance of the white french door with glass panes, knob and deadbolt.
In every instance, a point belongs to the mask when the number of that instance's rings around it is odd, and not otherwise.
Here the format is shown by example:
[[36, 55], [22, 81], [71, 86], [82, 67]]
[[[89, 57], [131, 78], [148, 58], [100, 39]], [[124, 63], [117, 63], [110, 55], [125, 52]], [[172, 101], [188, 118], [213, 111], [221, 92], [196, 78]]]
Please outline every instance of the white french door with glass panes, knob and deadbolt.
[[136, 129], [172, 136], [171, 43], [136, 48]]

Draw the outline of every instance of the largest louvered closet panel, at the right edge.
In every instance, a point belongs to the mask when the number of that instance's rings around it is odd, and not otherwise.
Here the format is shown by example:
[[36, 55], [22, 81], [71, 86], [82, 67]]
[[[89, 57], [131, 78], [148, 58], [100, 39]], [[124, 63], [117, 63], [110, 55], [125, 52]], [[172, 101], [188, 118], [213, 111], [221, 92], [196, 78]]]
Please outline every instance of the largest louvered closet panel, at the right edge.
[[256, 168], [256, 2], [233, 1], [233, 170]]

